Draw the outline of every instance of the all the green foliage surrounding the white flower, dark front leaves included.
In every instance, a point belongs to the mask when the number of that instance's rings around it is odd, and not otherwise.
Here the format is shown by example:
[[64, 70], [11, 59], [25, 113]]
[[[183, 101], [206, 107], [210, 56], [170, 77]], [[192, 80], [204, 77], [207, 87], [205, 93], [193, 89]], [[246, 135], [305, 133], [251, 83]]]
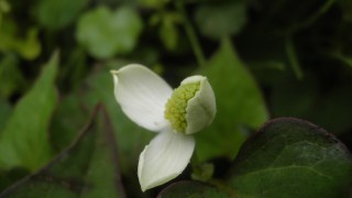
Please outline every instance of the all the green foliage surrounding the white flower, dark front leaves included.
[[[1, 191], [349, 197], [341, 142], [351, 150], [351, 0], [0, 0]], [[139, 155], [155, 133], [131, 122], [113, 96], [110, 70], [130, 63], [173, 87], [205, 75], [216, 94], [215, 122], [196, 134], [189, 167], [165, 190], [141, 191]], [[309, 120], [341, 142], [294, 119], [253, 134], [276, 117]], [[123, 184], [112, 182], [119, 174]]]

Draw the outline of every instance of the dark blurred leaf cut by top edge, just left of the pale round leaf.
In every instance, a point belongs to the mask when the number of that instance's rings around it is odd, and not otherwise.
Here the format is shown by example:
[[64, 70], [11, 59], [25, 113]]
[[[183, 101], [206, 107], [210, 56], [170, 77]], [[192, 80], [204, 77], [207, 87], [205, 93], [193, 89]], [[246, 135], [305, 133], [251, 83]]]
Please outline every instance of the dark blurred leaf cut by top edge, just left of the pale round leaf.
[[48, 30], [61, 30], [70, 24], [88, 0], [40, 0], [35, 16]]

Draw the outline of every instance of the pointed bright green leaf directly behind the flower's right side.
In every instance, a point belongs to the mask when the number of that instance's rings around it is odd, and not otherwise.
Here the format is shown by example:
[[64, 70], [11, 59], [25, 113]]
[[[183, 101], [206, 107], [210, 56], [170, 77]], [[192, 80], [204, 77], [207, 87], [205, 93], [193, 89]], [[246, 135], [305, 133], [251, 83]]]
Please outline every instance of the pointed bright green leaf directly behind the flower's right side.
[[204, 75], [216, 94], [218, 112], [210, 128], [197, 133], [198, 158], [233, 158], [246, 138], [243, 127], [256, 129], [268, 119], [263, 96], [228, 40], [211, 57]]

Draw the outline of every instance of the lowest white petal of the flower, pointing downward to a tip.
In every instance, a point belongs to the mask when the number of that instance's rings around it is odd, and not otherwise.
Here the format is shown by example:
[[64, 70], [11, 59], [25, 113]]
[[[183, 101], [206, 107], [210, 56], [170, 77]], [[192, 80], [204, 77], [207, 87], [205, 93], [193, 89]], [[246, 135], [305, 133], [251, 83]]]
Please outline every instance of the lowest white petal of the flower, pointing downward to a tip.
[[140, 155], [139, 179], [143, 191], [177, 177], [187, 166], [195, 150], [190, 135], [164, 131], [145, 146]]

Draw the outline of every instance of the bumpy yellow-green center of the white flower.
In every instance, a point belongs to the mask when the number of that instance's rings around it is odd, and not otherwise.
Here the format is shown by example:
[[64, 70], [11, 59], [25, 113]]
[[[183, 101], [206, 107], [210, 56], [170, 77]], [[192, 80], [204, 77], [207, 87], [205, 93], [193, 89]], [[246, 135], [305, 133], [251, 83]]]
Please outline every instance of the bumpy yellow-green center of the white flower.
[[174, 90], [165, 106], [164, 117], [177, 132], [185, 133], [187, 128], [186, 108], [187, 102], [195, 97], [200, 88], [200, 82], [180, 85]]

